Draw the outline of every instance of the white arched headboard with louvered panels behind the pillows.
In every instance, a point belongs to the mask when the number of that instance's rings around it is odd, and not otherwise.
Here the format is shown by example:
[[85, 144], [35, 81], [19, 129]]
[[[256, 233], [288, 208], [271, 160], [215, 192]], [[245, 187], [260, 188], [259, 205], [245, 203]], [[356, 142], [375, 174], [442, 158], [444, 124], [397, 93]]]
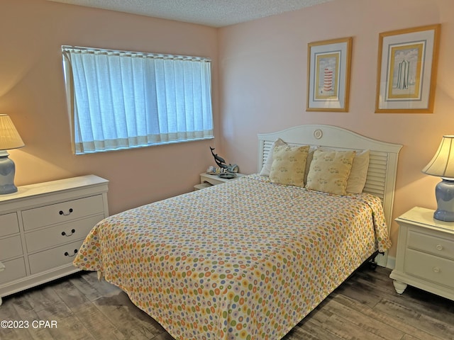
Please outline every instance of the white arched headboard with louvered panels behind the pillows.
[[[402, 145], [373, 140], [332, 125], [300, 125], [279, 132], [258, 135], [258, 171], [265, 164], [272, 143], [281, 138], [292, 145], [313, 145], [338, 150], [370, 150], [370, 164], [363, 192], [382, 199], [388, 232], [392, 222], [392, 205], [397, 175], [397, 160]], [[387, 266], [387, 253], [377, 256], [379, 266]]]

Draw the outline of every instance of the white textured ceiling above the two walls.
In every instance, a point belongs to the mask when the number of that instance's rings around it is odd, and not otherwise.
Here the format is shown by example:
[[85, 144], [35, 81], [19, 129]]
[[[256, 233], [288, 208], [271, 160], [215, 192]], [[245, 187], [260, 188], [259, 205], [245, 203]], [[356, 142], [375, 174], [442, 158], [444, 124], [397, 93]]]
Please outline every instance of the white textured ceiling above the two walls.
[[48, 0], [223, 27], [334, 0]]

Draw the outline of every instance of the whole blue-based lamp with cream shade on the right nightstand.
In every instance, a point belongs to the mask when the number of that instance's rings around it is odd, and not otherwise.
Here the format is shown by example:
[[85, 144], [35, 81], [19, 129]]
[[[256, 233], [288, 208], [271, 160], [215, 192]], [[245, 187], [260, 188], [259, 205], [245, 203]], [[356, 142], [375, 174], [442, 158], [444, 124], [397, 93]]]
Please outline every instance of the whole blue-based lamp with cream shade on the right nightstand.
[[443, 136], [431, 162], [423, 169], [424, 174], [441, 177], [435, 187], [437, 210], [433, 218], [454, 222], [454, 135]]

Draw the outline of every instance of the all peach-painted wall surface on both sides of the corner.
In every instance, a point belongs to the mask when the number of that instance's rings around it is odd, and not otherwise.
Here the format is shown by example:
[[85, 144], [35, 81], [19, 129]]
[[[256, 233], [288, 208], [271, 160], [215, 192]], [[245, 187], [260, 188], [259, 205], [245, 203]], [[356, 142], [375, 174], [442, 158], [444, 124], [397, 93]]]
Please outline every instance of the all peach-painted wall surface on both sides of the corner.
[[[441, 23], [433, 114], [377, 114], [378, 34]], [[439, 179], [421, 174], [443, 134], [454, 133], [454, 2], [335, 0], [219, 30], [45, 0], [0, 1], [0, 113], [26, 147], [11, 150], [16, 184], [82, 174], [111, 181], [111, 213], [190, 191], [212, 164], [209, 146], [256, 171], [257, 133], [322, 123], [404, 145], [394, 217], [435, 208]], [[353, 37], [348, 113], [306, 112], [308, 42]], [[74, 156], [61, 45], [201, 55], [213, 59], [216, 140]], [[397, 225], [392, 225], [397, 240]], [[395, 248], [390, 252], [394, 256]]]

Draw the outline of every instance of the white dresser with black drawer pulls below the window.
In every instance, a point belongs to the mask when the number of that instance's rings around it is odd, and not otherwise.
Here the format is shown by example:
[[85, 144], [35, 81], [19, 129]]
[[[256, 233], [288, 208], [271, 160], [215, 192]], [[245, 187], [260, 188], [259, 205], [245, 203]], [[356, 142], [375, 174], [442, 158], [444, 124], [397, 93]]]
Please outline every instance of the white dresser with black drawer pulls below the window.
[[106, 179], [89, 175], [0, 195], [1, 297], [79, 271], [84, 238], [109, 215]]

